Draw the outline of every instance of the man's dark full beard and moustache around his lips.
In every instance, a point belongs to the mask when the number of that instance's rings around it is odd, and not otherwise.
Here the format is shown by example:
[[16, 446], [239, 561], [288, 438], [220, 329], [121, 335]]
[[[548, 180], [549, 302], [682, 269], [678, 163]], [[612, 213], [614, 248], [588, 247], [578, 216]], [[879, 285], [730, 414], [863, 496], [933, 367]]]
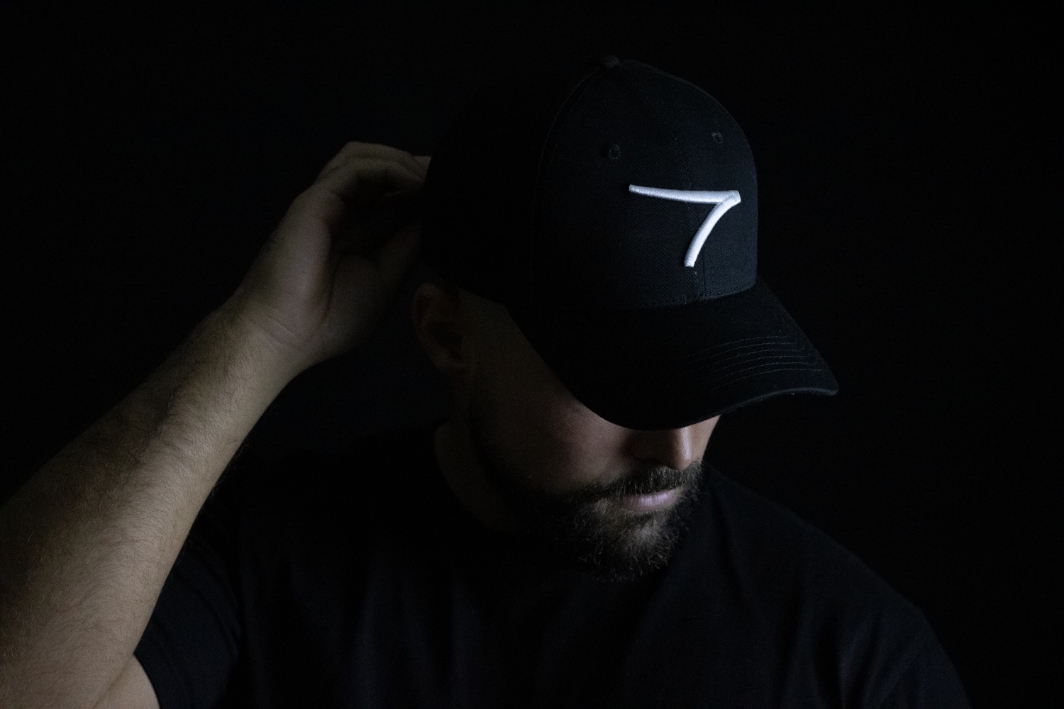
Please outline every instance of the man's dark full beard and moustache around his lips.
[[[608, 580], [632, 580], [663, 567], [672, 556], [694, 510], [702, 479], [701, 460], [683, 471], [648, 466], [634, 475], [571, 494], [531, 489], [501, 456], [494, 435], [498, 419], [479, 397], [469, 401], [469, 435], [510, 510], [521, 523], [520, 535], [553, 562], [575, 564]], [[663, 511], [632, 513], [617, 501], [680, 488], [679, 498]]]

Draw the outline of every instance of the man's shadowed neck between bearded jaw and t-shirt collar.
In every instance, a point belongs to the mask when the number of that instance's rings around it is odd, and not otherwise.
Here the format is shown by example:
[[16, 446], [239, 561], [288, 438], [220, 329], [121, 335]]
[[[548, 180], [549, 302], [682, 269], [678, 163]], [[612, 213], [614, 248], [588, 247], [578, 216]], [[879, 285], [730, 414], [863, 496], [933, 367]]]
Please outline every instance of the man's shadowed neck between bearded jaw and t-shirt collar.
[[517, 521], [484, 474], [466, 421], [454, 413], [435, 432], [436, 462], [454, 496], [484, 526], [497, 531], [517, 531]]

